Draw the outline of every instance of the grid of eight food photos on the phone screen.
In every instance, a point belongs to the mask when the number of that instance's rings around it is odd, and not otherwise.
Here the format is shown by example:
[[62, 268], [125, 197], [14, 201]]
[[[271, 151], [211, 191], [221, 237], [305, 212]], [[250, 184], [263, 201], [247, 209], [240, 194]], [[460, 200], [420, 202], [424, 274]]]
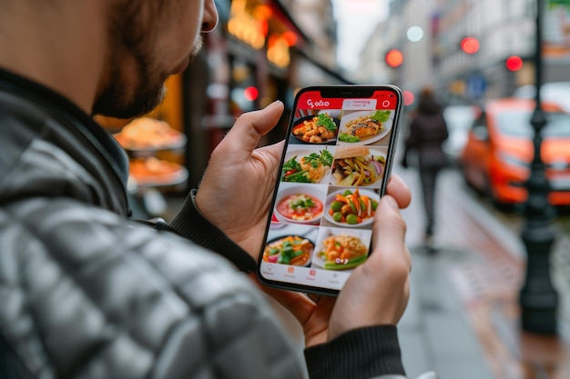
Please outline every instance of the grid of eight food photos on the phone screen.
[[295, 266], [309, 268], [302, 271], [303, 283], [314, 280], [316, 269], [329, 271], [335, 273], [329, 276], [334, 287], [336, 273], [349, 274], [366, 260], [393, 114], [296, 112], [262, 257], [266, 267], [275, 272], [272, 264], [289, 265], [282, 273], [292, 283]]

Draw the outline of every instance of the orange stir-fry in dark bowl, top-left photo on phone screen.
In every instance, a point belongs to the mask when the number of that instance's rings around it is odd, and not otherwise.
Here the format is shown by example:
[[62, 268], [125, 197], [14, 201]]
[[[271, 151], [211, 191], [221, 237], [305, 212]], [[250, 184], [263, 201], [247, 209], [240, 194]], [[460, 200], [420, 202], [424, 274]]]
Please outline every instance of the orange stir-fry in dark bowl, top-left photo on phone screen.
[[330, 144], [339, 133], [339, 120], [323, 113], [295, 120], [291, 135], [307, 144]]

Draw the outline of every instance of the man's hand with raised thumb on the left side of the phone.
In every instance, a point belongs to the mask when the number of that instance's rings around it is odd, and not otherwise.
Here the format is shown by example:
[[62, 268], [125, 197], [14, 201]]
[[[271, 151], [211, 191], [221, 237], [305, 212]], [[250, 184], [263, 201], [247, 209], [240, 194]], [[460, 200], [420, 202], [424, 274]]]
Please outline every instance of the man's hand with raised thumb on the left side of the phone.
[[282, 143], [256, 149], [283, 104], [240, 115], [212, 153], [196, 194], [200, 212], [256, 260], [270, 212]]

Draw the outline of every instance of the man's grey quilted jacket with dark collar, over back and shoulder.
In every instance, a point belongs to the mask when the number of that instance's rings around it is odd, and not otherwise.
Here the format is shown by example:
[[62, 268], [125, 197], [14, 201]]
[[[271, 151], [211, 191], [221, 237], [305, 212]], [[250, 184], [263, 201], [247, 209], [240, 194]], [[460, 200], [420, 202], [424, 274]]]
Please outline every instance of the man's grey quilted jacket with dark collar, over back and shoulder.
[[62, 97], [3, 79], [0, 378], [300, 378], [245, 274], [127, 219], [112, 137]]

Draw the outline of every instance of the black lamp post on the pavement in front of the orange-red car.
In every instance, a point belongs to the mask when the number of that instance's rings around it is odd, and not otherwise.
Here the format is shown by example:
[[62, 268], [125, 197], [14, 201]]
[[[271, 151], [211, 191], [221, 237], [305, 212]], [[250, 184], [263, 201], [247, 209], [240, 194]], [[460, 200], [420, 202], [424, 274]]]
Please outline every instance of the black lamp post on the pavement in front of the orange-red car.
[[545, 163], [540, 155], [543, 141], [541, 131], [547, 124], [540, 97], [542, 22], [545, 0], [536, 1], [536, 49], [534, 53], [536, 105], [531, 119], [534, 127], [534, 159], [531, 164], [531, 174], [525, 183], [528, 200], [524, 205], [522, 239], [526, 248], [527, 261], [524, 285], [519, 294], [519, 304], [524, 331], [556, 334], [558, 294], [550, 275], [550, 251], [555, 242], [554, 208], [548, 202], [550, 183], [545, 176]]

